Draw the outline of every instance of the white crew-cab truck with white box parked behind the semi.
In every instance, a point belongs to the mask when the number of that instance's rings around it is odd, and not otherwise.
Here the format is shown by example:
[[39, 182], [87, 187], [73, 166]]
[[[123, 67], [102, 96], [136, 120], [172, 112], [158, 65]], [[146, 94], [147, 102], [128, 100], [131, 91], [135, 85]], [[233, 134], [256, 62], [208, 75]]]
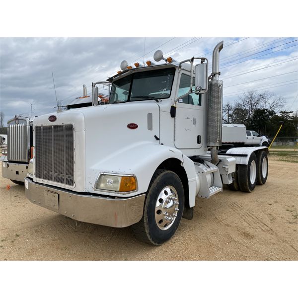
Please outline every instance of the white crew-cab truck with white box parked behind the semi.
[[224, 146], [231, 144], [234, 147], [269, 147], [271, 142], [265, 136], [260, 136], [255, 131], [246, 130], [246, 127], [243, 124], [223, 124], [222, 138]]

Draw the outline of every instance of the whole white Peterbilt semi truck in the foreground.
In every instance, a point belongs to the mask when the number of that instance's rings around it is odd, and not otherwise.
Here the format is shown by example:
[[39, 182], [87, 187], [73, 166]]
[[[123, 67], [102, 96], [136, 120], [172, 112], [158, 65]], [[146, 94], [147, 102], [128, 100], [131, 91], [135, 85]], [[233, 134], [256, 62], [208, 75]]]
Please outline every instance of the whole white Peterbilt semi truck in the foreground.
[[26, 197], [77, 221], [132, 225], [137, 238], [160, 245], [182, 217], [193, 218], [196, 197], [210, 198], [223, 184], [245, 192], [264, 184], [266, 147], [218, 153], [222, 49], [220, 42], [209, 76], [206, 58], [176, 62], [156, 51], [157, 63], [123, 61], [104, 82], [112, 83], [109, 104], [97, 105], [97, 82], [93, 107], [36, 118]]

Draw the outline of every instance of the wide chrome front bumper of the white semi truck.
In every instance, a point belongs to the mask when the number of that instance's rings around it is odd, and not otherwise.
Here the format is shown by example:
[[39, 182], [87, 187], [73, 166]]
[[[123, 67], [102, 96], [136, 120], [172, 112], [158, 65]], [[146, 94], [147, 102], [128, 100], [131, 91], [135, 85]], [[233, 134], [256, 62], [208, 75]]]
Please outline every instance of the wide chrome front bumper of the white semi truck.
[[80, 195], [25, 179], [25, 195], [33, 204], [79, 222], [125, 227], [143, 216], [145, 194], [125, 199]]

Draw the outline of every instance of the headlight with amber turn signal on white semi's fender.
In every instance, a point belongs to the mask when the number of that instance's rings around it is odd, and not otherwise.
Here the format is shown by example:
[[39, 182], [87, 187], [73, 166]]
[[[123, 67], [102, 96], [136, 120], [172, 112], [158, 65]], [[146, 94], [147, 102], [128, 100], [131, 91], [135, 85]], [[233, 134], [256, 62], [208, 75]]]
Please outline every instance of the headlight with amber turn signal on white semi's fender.
[[137, 179], [135, 176], [117, 176], [111, 174], [100, 174], [95, 189], [116, 192], [131, 192], [137, 190]]

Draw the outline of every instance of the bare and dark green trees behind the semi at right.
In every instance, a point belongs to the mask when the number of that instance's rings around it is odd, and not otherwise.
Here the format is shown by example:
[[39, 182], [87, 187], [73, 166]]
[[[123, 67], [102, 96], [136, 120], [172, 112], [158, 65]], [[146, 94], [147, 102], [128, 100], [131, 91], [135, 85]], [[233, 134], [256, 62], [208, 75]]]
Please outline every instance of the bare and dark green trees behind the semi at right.
[[271, 91], [243, 92], [234, 103], [223, 106], [223, 123], [244, 124], [247, 130], [273, 138], [281, 124], [279, 137], [297, 137], [298, 110], [286, 111], [285, 98]]

